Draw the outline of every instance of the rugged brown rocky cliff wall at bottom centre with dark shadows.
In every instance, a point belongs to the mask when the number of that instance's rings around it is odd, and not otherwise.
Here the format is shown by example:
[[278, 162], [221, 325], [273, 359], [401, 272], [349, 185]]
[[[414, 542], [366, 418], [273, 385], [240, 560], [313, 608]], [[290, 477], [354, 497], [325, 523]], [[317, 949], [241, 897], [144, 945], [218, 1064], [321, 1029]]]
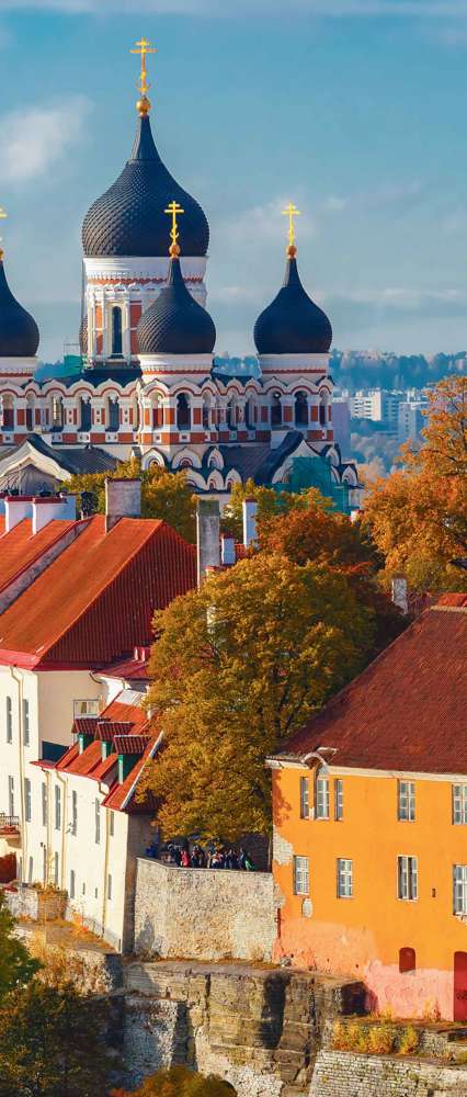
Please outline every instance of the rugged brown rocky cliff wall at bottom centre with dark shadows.
[[308, 1097], [326, 1021], [364, 999], [312, 972], [182, 961], [128, 964], [124, 986], [126, 1086], [184, 1063], [239, 1097]]

